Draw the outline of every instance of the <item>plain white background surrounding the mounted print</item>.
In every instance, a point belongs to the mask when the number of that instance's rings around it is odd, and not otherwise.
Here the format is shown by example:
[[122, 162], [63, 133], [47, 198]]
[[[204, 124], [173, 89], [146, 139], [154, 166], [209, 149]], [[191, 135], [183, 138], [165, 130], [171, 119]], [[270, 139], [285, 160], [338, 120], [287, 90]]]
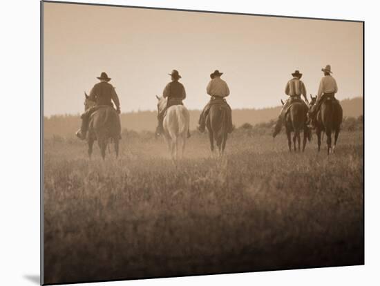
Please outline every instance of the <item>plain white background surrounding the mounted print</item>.
[[[380, 201], [377, 106], [380, 20], [375, 1], [86, 1], [220, 12], [365, 21], [365, 266], [131, 280], [94, 285], [378, 285]], [[39, 0], [4, 1], [0, 11], [1, 283], [39, 276]], [[318, 44], [318, 43], [316, 43]], [[377, 282], [376, 282], [377, 281]], [[82, 285], [82, 284], [77, 284]], [[86, 283], [85, 285], [93, 285]]]

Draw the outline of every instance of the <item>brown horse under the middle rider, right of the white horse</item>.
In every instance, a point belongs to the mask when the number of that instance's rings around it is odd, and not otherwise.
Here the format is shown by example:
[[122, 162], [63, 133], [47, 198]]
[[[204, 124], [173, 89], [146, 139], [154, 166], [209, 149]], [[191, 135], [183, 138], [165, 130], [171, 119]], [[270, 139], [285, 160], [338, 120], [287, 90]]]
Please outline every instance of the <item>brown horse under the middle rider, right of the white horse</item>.
[[210, 148], [213, 151], [213, 140], [218, 146], [219, 155], [225, 152], [228, 137], [229, 108], [225, 104], [212, 104], [206, 117], [206, 127], [209, 131]]

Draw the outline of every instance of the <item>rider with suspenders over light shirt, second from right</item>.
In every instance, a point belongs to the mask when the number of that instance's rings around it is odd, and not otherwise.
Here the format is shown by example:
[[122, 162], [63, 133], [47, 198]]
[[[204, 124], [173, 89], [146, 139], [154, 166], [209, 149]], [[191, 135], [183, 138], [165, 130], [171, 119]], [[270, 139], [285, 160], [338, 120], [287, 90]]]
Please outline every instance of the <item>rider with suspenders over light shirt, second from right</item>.
[[[305, 98], [305, 102], [309, 103], [306, 97], [306, 88], [305, 84], [301, 81], [302, 73], [299, 72], [299, 70], [294, 71], [292, 73], [293, 78], [287, 82], [285, 86], [285, 94], [289, 95], [289, 98], [283, 105], [283, 108], [281, 108], [280, 115], [278, 116], [278, 120], [276, 123], [276, 126], [274, 127], [274, 133], [273, 137], [276, 137], [278, 133], [281, 131], [281, 127], [283, 126], [283, 122], [285, 120], [285, 113], [288, 109], [288, 107], [294, 102], [303, 102], [301, 99], [301, 95], [303, 95], [303, 98]], [[303, 102], [305, 104], [305, 102]], [[305, 104], [307, 107], [307, 104]]]

